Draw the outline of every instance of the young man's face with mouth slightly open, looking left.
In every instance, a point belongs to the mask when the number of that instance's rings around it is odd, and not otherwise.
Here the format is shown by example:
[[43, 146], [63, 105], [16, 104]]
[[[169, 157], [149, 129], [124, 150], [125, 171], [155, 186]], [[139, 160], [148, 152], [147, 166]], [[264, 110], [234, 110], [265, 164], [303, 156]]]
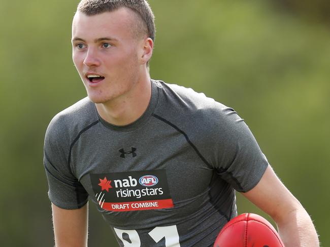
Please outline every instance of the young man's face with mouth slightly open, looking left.
[[121, 8], [87, 16], [77, 12], [72, 24], [73, 61], [94, 103], [129, 97], [145, 64], [143, 38], [131, 30], [137, 18]]

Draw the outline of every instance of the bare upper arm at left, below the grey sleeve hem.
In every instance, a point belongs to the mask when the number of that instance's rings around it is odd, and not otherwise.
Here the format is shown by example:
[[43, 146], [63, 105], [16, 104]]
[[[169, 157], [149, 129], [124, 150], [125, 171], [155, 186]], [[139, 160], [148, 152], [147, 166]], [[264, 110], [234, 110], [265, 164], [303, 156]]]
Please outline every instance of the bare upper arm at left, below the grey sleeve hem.
[[74, 210], [58, 208], [52, 203], [56, 247], [86, 247], [88, 236], [88, 202]]

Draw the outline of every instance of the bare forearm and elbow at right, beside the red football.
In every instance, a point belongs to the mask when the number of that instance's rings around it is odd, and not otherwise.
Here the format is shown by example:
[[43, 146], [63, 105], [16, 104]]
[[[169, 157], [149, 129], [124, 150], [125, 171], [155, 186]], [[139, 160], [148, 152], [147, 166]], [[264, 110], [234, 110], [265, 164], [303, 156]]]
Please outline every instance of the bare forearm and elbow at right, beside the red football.
[[319, 246], [318, 236], [308, 213], [270, 166], [259, 183], [242, 194], [273, 218], [285, 247]]

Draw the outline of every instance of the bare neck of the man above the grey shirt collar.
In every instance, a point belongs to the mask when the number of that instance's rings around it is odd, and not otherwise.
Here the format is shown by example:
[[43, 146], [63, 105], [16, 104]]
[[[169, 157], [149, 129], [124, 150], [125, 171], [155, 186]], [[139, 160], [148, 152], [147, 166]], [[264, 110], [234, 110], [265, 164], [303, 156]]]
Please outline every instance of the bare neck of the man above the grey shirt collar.
[[112, 125], [125, 126], [134, 122], [146, 111], [151, 98], [150, 76], [146, 76], [126, 95], [110, 102], [98, 103], [98, 114]]

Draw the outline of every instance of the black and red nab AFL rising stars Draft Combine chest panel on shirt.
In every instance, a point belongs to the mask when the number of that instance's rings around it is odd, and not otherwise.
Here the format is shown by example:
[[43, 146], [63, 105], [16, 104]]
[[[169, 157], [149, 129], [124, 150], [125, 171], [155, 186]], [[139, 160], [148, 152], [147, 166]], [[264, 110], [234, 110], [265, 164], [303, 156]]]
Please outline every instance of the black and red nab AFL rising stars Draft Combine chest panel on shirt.
[[[128, 155], [133, 156], [133, 153]], [[121, 212], [174, 207], [164, 169], [89, 175], [95, 202], [103, 210]]]

